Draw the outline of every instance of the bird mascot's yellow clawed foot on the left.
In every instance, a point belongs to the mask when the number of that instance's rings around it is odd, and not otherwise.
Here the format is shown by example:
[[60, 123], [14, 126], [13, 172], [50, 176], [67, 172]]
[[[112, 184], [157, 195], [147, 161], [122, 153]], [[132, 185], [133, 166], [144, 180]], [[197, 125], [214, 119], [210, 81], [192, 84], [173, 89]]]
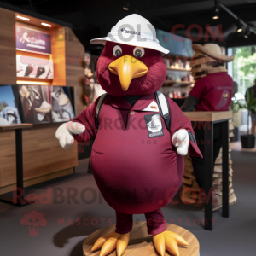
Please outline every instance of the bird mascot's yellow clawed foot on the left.
[[118, 256], [123, 255], [125, 253], [126, 247], [128, 246], [130, 240], [130, 233], [127, 234], [119, 234], [110, 232], [105, 236], [100, 237], [91, 248], [91, 252], [99, 250], [102, 248], [100, 256], [108, 255], [116, 249], [116, 253]]

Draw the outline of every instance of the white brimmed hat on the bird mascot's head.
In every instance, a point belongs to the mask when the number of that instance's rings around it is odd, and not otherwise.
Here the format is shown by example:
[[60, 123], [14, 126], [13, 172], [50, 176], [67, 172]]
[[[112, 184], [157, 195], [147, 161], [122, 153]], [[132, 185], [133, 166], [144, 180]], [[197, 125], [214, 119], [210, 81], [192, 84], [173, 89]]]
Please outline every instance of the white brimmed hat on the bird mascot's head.
[[90, 44], [105, 45], [106, 41], [155, 49], [160, 51], [162, 55], [169, 52], [168, 49], [160, 46], [154, 26], [141, 15], [126, 16], [112, 27], [107, 37], [92, 39]]

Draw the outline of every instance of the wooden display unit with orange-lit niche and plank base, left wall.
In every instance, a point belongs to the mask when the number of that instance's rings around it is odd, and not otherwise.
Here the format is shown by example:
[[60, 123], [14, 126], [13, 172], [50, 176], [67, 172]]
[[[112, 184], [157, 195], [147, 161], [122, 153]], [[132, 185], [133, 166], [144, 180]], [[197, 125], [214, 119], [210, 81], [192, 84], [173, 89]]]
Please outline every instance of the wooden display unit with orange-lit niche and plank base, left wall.
[[[1, 84], [18, 85], [57, 85], [73, 88], [72, 98], [74, 109], [79, 114], [84, 109], [84, 46], [79, 42], [70, 26], [60, 25], [49, 21], [47, 17], [37, 14], [33, 16], [0, 8], [4, 26], [0, 27], [0, 68], [2, 70]], [[17, 16], [26, 18], [19, 19]], [[57, 20], [56, 20], [57, 21]], [[44, 26], [42, 23], [50, 26]], [[54, 76], [52, 79], [17, 76], [16, 55], [31, 55], [42, 58], [42, 54], [34, 50], [22, 50], [17, 47], [15, 26], [23, 24], [28, 29], [39, 32], [49, 32], [51, 35], [51, 50], [44, 58], [53, 61]], [[22, 132], [23, 137], [23, 183], [24, 188], [42, 183], [56, 177], [72, 174], [74, 166], [78, 165], [78, 146], [73, 145], [68, 150], [60, 147], [55, 138], [55, 131], [60, 123], [33, 125], [31, 129]], [[0, 132], [0, 195], [12, 191], [19, 186], [16, 183], [15, 131]]]

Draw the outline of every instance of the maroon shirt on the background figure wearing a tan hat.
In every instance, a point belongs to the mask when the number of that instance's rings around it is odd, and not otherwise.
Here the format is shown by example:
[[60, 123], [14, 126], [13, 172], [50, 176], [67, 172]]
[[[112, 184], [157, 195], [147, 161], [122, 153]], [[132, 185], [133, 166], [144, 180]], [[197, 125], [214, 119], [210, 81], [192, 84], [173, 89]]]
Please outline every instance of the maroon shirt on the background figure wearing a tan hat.
[[200, 99], [195, 111], [228, 111], [232, 98], [233, 79], [227, 73], [211, 73], [199, 79], [190, 91]]

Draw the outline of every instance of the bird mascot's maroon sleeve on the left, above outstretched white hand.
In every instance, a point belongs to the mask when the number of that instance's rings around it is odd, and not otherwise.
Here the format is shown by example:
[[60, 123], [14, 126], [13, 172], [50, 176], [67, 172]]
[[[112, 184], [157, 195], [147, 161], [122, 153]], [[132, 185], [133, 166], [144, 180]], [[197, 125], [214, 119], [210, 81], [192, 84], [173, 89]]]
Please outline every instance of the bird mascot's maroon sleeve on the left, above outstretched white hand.
[[96, 137], [95, 114], [98, 100], [99, 98], [97, 98], [89, 108], [85, 108], [72, 120], [73, 122], [78, 122], [85, 126], [85, 131], [83, 133], [73, 135], [73, 138], [79, 143], [88, 142]]

